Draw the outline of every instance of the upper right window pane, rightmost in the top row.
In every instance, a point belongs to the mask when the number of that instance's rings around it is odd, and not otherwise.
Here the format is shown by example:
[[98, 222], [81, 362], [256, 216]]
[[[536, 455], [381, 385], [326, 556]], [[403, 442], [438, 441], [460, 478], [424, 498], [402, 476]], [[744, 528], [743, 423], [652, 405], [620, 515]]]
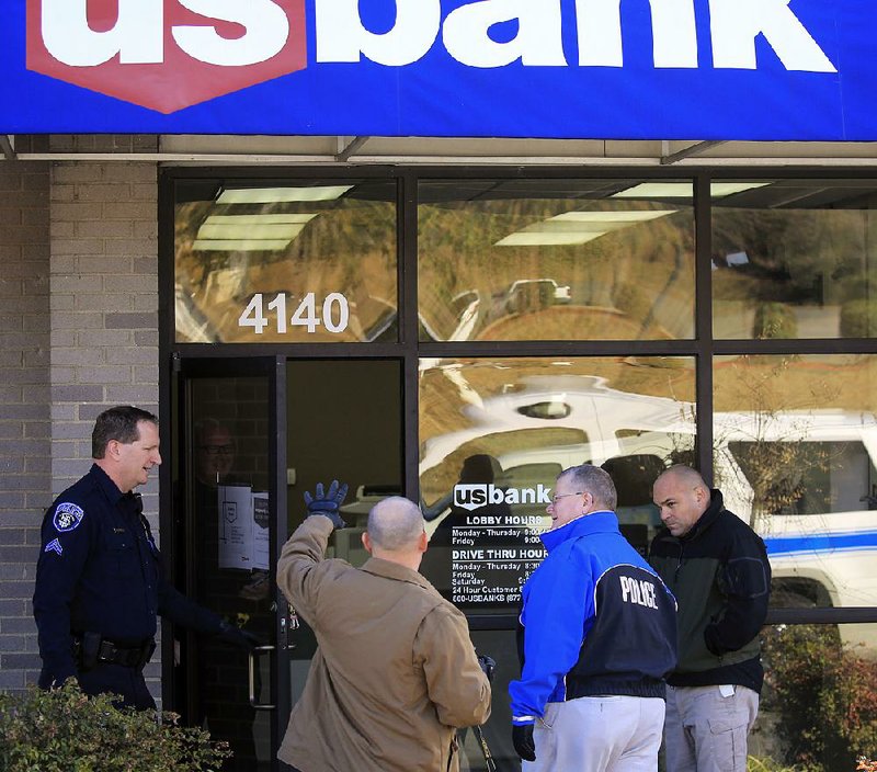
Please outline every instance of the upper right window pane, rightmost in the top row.
[[713, 202], [714, 336], [877, 336], [877, 183], [748, 185]]

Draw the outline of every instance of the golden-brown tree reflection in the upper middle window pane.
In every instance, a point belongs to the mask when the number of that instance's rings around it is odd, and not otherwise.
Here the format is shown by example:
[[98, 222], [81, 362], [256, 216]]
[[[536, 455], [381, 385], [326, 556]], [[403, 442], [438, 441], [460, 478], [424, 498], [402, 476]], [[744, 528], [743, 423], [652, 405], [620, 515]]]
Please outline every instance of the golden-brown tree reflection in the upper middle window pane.
[[[527, 192], [522, 189], [517, 194], [526, 196]], [[669, 207], [654, 202], [622, 204], [535, 194], [422, 204], [418, 211], [420, 311], [431, 327], [447, 334], [455, 322], [451, 299], [462, 292], [476, 292], [483, 298], [474, 334], [479, 338], [483, 329], [509, 316], [504, 299], [515, 280], [553, 279], [572, 287], [573, 305], [628, 315], [625, 328], [613, 327], [614, 337], [691, 334], [694, 240], [690, 207], [585, 243], [497, 246], [515, 231], [573, 209], [612, 213], [657, 208]], [[643, 271], [649, 281], [640, 285], [642, 297], [636, 299], [631, 297], [629, 276], [642, 275]], [[658, 318], [650, 318], [653, 315]], [[549, 337], [542, 329], [544, 321], [542, 316], [528, 317], [528, 329], [520, 337]], [[580, 321], [573, 319], [571, 323]], [[567, 320], [567, 334], [556, 337], [569, 337], [569, 325]], [[658, 327], [667, 328], [663, 334], [658, 334]], [[585, 332], [577, 328], [576, 334], [601, 338], [606, 332], [605, 328]]]

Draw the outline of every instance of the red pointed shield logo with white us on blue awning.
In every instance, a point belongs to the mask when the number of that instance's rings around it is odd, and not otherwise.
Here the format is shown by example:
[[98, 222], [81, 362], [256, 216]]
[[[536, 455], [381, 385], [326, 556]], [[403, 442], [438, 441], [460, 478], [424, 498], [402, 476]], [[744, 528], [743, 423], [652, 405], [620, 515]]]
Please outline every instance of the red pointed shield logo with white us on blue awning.
[[27, 0], [27, 69], [164, 114], [304, 69], [306, 36], [305, 0]]

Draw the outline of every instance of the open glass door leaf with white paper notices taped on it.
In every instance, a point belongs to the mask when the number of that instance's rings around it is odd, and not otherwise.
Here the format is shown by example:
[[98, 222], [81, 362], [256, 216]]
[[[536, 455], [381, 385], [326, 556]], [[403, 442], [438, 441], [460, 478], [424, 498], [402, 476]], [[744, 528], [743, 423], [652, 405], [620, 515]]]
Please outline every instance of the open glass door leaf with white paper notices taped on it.
[[[174, 574], [179, 589], [261, 642], [250, 656], [174, 631], [174, 706], [234, 753], [226, 772], [274, 769], [281, 639], [273, 556], [285, 487], [273, 359], [184, 362], [176, 383]], [[285, 509], [285, 508], [284, 508]], [[285, 521], [285, 519], [284, 519]], [[288, 705], [286, 705], [288, 712]]]

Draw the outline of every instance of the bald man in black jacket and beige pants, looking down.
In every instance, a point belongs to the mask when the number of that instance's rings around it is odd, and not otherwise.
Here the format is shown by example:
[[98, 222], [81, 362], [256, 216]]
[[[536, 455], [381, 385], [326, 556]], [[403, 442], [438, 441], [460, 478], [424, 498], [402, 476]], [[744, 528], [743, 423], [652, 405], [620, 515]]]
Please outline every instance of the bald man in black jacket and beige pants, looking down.
[[649, 563], [679, 603], [679, 663], [668, 678], [667, 768], [744, 772], [764, 680], [759, 632], [771, 566], [762, 540], [687, 466], [653, 487], [664, 527]]

